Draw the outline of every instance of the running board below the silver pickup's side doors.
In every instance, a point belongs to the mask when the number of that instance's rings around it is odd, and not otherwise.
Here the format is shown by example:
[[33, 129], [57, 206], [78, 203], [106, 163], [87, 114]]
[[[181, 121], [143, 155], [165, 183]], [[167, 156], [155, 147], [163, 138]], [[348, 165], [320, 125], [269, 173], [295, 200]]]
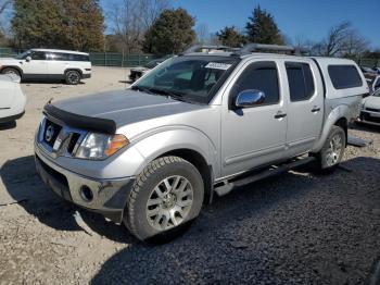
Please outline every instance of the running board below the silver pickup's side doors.
[[278, 174], [283, 173], [283, 172], [288, 172], [288, 171], [295, 169], [297, 166], [311, 163], [314, 160], [315, 160], [315, 158], [308, 157], [308, 158], [304, 158], [304, 159], [292, 160], [291, 162], [282, 163], [280, 165], [273, 165], [267, 170], [264, 170], [259, 173], [255, 173], [255, 174], [248, 176], [248, 177], [243, 177], [241, 179], [235, 179], [232, 182], [224, 181], [223, 182], [224, 185], [216, 186], [214, 188], [214, 190], [216, 191], [216, 194], [219, 197], [225, 196], [225, 195], [229, 194], [235, 187], [244, 186], [244, 185], [251, 184], [251, 183], [256, 182], [256, 181], [261, 181], [261, 179], [274, 176], [274, 175], [278, 175]]

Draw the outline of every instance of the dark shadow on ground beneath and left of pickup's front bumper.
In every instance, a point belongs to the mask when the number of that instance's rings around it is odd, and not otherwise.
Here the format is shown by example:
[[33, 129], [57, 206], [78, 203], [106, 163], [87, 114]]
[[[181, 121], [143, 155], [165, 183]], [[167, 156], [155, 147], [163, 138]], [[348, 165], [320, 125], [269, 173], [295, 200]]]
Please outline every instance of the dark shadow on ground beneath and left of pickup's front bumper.
[[[100, 214], [88, 212], [55, 195], [36, 172], [33, 156], [7, 161], [0, 170], [1, 179], [10, 197], [39, 222], [58, 231], [83, 231], [74, 219], [78, 211], [86, 224], [96, 233], [112, 240], [129, 243], [127, 231]], [[0, 206], [1, 205], [0, 202]]]

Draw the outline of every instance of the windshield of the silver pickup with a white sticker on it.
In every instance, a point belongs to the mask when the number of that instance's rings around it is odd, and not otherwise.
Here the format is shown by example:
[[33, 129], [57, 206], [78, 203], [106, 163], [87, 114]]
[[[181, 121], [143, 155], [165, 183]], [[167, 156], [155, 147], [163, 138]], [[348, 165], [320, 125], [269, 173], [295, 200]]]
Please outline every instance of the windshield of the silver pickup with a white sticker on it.
[[172, 58], [147, 74], [132, 89], [208, 103], [239, 59], [217, 55]]

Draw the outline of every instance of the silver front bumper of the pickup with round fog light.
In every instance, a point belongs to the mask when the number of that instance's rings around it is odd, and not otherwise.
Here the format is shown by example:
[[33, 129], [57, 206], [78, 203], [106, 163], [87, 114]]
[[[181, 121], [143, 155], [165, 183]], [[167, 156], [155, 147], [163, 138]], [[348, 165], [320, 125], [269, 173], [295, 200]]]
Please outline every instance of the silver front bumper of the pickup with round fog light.
[[[38, 145], [35, 145], [35, 161], [38, 174], [55, 194], [115, 223], [122, 223], [134, 177], [94, 179], [83, 176], [55, 164]], [[84, 187], [91, 190], [92, 199], [87, 199], [83, 194]]]

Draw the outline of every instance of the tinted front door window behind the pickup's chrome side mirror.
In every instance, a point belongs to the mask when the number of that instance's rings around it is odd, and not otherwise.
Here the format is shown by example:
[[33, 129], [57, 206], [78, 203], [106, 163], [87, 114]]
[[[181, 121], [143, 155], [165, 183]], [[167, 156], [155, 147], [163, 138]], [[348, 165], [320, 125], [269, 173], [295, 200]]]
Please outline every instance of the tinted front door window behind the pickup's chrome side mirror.
[[233, 87], [233, 98], [241, 91], [256, 89], [265, 94], [264, 104], [280, 101], [278, 72], [275, 62], [255, 62], [240, 75]]

